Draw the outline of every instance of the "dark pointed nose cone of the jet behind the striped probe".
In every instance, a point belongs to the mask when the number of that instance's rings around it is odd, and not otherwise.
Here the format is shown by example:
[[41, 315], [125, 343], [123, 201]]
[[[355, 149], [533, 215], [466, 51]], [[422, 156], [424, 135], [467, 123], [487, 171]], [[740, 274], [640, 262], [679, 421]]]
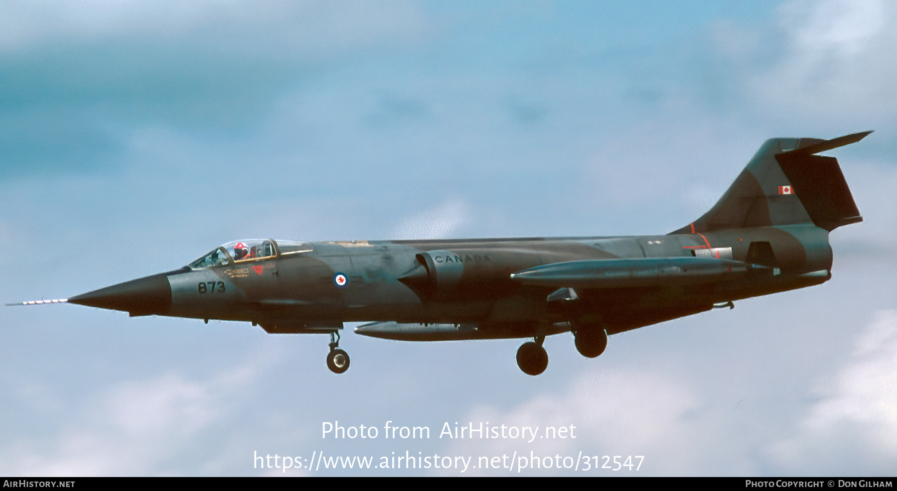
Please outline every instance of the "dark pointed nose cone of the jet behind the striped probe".
[[163, 315], [171, 308], [171, 285], [168, 276], [162, 273], [80, 294], [68, 302], [127, 311], [131, 316]]

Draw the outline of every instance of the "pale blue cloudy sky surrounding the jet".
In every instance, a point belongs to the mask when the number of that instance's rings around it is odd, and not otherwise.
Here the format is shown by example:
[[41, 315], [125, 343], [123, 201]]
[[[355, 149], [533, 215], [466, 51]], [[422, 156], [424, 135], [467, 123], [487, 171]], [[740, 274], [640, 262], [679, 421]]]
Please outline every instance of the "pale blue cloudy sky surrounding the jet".
[[[666, 233], [766, 138], [875, 133], [828, 153], [865, 217], [832, 232], [831, 281], [596, 359], [556, 335], [537, 377], [518, 339], [347, 325], [335, 375], [326, 336], [0, 308], [0, 474], [893, 476], [895, 52], [897, 7], [876, 0], [4, 2], [3, 302], [254, 237]], [[471, 423], [570, 433], [442, 432]], [[394, 469], [406, 452], [429, 465]]]

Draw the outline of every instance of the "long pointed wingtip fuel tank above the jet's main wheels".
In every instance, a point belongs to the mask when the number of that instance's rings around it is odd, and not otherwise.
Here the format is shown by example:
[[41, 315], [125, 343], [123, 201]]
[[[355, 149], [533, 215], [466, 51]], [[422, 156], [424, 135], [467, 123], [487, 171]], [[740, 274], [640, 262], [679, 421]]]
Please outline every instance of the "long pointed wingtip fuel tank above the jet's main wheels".
[[741, 261], [716, 258], [585, 259], [530, 267], [512, 274], [524, 285], [570, 288], [711, 283], [762, 268]]

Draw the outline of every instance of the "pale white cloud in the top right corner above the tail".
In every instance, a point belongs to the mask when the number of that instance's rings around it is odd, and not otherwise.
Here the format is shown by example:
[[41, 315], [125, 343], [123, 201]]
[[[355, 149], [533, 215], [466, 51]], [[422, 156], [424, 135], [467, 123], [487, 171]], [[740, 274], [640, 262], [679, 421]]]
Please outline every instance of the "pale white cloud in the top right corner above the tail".
[[783, 45], [766, 47], [771, 63], [746, 83], [758, 109], [776, 119], [838, 118], [833, 123], [858, 128], [893, 124], [894, 10], [879, 0], [784, 4], [780, 34], [769, 36]]

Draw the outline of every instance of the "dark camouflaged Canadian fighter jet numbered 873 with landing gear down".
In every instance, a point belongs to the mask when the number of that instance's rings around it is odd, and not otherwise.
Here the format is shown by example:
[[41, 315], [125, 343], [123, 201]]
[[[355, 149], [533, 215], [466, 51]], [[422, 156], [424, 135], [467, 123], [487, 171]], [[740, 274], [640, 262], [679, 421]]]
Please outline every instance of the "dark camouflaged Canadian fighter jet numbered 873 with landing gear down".
[[532, 338], [517, 363], [537, 375], [548, 366], [546, 336], [570, 332], [594, 358], [609, 335], [828, 281], [829, 232], [863, 218], [838, 161], [816, 153], [869, 133], [767, 140], [710, 211], [664, 235], [241, 240], [174, 271], [14, 305], [68, 302], [329, 334], [334, 373], [349, 368], [339, 348], [345, 322], [405, 341]]

